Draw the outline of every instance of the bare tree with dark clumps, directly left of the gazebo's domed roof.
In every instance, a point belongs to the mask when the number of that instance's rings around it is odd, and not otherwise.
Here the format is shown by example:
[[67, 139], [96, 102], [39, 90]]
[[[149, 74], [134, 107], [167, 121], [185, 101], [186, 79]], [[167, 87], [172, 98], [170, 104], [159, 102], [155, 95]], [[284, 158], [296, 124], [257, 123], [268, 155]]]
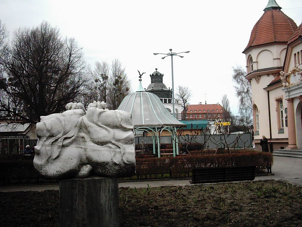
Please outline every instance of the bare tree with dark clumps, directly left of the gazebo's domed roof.
[[124, 97], [131, 92], [131, 82], [125, 68], [118, 59], [111, 64], [111, 75], [108, 78], [108, 108], [116, 110]]

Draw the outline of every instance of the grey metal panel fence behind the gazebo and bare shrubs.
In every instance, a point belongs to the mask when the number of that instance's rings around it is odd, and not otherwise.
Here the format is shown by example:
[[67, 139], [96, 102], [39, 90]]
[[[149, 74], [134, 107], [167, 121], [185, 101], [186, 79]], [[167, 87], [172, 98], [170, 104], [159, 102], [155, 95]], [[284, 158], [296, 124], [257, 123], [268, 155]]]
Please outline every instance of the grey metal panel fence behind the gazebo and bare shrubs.
[[[141, 144], [142, 141], [146, 143], [153, 143], [152, 137], [135, 137], [134, 143]], [[190, 135], [185, 135], [179, 137], [180, 143], [191, 143], [197, 142], [204, 144], [205, 148], [215, 149], [220, 147], [230, 147], [230, 148], [248, 148], [252, 147], [252, 134], [243, 133], [243, 134], [216, 134], [216, 135], [198, 135], [194, 136], [192, 139]], [[157, 142], [157, 141], [156, 141]], [[160, 137], [160, 143], [172, 143], [172, 138], [170, 136]]]

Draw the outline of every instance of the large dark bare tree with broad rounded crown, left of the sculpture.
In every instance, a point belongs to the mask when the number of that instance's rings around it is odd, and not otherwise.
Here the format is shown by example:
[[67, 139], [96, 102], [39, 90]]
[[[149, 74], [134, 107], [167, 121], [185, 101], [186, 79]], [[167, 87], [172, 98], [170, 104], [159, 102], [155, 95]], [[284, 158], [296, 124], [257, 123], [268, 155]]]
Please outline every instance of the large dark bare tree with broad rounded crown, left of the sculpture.
[[[1, 86], [15, 102], [18, 117], [37, 122], [59, 113], [85, 92], [86, 63], [75, 39], [62, 39], [58, 28], [47, 22], [14, 32], [7, 61], [7, 80]], [[11, 112], [2, 103], [2, 110]]]

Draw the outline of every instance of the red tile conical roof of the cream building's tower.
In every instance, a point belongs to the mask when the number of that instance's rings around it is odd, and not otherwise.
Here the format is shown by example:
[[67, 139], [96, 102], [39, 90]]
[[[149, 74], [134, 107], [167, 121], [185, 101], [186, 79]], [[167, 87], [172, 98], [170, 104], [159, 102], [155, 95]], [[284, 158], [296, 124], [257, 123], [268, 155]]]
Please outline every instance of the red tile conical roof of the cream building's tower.
[[266, 10], [252, 29], [249, 43], [244, 51], [261, 44], [288, 42], [296, 29], [296, 23], [280, 9]]

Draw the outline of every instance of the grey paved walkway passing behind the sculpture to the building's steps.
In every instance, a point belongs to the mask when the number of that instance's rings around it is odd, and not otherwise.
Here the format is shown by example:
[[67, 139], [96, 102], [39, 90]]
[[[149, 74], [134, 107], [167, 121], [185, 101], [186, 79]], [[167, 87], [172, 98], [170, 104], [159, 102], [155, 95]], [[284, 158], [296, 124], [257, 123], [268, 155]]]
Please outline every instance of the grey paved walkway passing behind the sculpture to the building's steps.
[[[294, 184], [302, 185], [302, 159], [274, 156], [274, 164], [271, 168], [274, 176], [258, 176], [255, 180], [284, 180]], [[119, 183], [119, 187], [131, 188], [147, 188], [161, 186], [184, 186], [190, 185], [189, 180], [157, 180], [157, 181], [136, 181]], [[52, 185], [24, 185], [24, 186], [3, 186], [0, 192], [16, 192], [16, 191], [44, 191], [59, 190], [58, 184]]]

